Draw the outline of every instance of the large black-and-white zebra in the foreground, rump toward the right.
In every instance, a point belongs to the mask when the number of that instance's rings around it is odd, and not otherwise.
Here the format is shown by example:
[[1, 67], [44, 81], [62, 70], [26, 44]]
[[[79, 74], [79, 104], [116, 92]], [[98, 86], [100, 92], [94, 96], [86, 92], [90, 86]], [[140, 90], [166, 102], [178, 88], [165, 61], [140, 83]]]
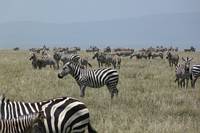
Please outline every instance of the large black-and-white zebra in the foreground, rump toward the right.
[[18, 118], [34, 112], [44, 111], [45, 119], [38, 128], [45, 133], [89, 133], [96, 131], [90, 124], [89, 111], [84, 103], [71, 97], [61, 97], [47, 101], [28, 103], [11, 101], [0, 97], [0, 119]]

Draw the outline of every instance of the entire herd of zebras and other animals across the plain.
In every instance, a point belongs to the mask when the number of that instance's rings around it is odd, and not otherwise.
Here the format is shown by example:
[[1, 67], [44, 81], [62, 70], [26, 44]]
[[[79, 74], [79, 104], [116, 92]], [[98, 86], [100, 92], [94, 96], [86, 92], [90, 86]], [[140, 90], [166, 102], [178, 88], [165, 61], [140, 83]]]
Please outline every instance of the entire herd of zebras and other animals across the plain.
[[[14, 49], [16, 50], [16, 48]], [[92, 52], [92, 59], [98, 63], [94, 69], [86, 57], [78, 54], [80, 48], [54, 48], [53, 55], [46, 47], [30, 49], [30, 60], [33, 69], [43, 69], [50, 66], [60, 69], [58, 78], [70, 74], [80, 87], [80, 96], [85, 96], [86, 87], [100, 88], [107, 86], [111, 99], [118, 95], [117, 84], [123, 57], [136, 57], [136, 59], [166, 59], [169, 66], [175, 66], [175, 82], [178, 87], [195, 87], [195, 82], [200, 76], [200, 65], [190, 66], [192, 57], [180, 57], [177, 48], [148, 48], [134, 51], [134, 49], [117, 48], [103, 50], [90, 47], [86, 52]], [[101, 52], [102, 51], [102, 52]], [[185, 52], [194, 49], [184, 50]], [[61, 67], [62, 65], [62, 67]], [[89, 68], [88, 68], [89, 66]], [[97, 131], [91, 126], [88, 108], [81, 101], [72, 97], [58, 97], [34, 103], [10, 100], [4, 95], [0, 96], [0, 133], [84, 133], [86, 128], [89, 133]]]

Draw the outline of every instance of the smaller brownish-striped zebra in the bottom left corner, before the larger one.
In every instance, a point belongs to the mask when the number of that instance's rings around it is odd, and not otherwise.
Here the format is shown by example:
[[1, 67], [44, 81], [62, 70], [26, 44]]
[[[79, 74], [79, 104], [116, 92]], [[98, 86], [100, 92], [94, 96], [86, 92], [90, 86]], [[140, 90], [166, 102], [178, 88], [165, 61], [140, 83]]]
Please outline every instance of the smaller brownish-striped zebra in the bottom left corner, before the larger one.
[[[43, 111], [18, 118], [0, 120], [0, 133], [29, 133], [38, 122], [43, 122]], [[44, 132], [44, 131], [43, 131]]]

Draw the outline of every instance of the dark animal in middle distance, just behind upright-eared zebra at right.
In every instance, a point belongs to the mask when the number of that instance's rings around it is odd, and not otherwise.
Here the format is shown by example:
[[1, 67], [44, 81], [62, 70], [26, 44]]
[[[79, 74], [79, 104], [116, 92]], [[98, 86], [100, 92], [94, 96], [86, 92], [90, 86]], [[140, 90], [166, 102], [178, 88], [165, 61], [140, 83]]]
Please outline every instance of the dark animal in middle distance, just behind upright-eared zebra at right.
[[166, 59], [168, 59], [168, 61], [169, 61], [169, 66], [173, 67], [173, 65], [177, 66], [178, 61], [179, 61], [179, 56], [176, 53], [167, 51]]

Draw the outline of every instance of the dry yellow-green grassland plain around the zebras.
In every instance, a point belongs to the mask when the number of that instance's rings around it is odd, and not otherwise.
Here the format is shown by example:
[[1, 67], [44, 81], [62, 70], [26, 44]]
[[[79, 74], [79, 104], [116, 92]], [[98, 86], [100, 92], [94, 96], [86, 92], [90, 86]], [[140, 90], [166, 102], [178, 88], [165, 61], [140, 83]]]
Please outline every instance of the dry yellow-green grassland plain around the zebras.
[[[89, 56], [81, 52], [83, 56]], [[179, 53], [200, 63], [200, 53]], [[123, 58], [119, 70], [119, 96], [112, 101], [106, 87], [87, 88], [85, 98], [69, 75], [57, 78], [58, 70], [33, 70], [28, 51], [0, 50], [0, 94], [10, 99], [40, 101], [71, 96], [83, 101], [99, 133], [199, 133], [200, 81], [196, 89], [178, 88], [174, 68], [167, 60]], [[90, 59], [94, 68], [96, 60]]]

